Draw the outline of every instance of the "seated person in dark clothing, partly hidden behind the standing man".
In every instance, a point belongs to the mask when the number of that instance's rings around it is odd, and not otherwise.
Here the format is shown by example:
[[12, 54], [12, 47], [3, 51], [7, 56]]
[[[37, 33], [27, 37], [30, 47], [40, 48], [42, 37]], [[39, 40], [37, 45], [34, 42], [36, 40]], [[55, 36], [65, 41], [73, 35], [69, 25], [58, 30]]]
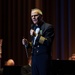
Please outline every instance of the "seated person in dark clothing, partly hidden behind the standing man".
[[31, 63], [32, 58], [30, 56], [28, 57], [28, 65], [25, 65], [21, 68], [21, 75], [31, 75]]

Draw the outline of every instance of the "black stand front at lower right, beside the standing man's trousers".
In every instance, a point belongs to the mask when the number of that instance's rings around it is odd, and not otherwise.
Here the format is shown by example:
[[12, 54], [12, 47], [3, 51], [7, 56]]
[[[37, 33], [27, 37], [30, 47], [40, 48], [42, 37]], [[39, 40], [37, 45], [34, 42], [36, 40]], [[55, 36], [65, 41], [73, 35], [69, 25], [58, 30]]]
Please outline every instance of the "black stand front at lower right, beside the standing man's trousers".
[[75, 75], [74, 60], [52, 60], [52, 75]]

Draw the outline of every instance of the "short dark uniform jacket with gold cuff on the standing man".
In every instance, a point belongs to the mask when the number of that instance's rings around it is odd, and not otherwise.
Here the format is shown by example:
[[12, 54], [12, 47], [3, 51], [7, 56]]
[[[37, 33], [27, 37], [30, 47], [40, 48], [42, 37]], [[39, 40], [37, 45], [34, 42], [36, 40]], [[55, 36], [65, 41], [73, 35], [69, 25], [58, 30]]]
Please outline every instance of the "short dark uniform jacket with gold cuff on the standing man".
[[[34, 37], [32, 37], [32, 54], [38, 55], [41, 53], [51, 53], [51, 46], [54, 39], [54, 29], [51, 24], [43, 22], [38, 26], [40, 28], [39, 35], [36, 39], [35, 45], [33, 45]], [[31, 27], [36, 30], [34, 24]]]

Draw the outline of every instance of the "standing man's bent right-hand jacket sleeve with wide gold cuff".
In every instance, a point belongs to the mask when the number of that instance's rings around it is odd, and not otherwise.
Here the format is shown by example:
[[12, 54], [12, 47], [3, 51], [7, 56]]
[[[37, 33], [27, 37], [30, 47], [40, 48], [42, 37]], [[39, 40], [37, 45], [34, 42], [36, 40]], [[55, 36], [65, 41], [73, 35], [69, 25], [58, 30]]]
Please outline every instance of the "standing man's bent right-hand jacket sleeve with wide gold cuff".
[[49, 26], [46, 29], [46, 31], [44, 32], [44, 36], [40, 36], [39, 35], [37, 37], [37, 41], [40, 44], [44, 44], [44, 45], [47, 45], [47, 46], [49, 46], [50, 44], [52, 44], [53, 39], [54, 39], [54, 28], [53, 28], [53, 26]]

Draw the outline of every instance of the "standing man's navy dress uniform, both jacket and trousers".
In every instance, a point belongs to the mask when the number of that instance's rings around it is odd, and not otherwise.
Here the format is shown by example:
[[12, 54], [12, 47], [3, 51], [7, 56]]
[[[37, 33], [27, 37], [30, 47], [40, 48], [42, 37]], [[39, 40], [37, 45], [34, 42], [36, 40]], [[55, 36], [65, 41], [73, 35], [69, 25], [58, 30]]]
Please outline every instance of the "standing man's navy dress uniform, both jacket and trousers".
[[[34, 44], [32, 37], [32, 75], [50, 75], [51, 47], [54, 39], [54, 28], [51, 24], [41, 23], [39, 34]], [[36, 30], [34, 24], [31, 25]], [[31, 45], [30, 44], [30, 45]]]

